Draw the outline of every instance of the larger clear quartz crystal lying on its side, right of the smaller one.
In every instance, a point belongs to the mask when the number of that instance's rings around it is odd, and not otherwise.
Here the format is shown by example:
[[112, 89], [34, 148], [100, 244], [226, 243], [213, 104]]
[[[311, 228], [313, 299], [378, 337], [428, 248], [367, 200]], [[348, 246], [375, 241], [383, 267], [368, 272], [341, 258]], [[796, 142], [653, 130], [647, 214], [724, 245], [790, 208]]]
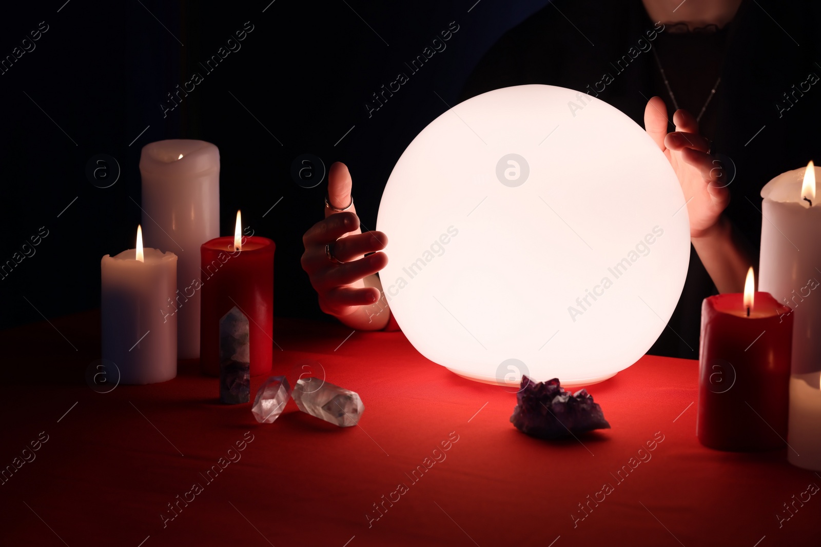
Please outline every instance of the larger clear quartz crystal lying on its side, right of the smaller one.
[[365, 411], [359, 394], [319, 378], [297, 380], [293, 397], [302, 412], [340, 427], [355, 426]]

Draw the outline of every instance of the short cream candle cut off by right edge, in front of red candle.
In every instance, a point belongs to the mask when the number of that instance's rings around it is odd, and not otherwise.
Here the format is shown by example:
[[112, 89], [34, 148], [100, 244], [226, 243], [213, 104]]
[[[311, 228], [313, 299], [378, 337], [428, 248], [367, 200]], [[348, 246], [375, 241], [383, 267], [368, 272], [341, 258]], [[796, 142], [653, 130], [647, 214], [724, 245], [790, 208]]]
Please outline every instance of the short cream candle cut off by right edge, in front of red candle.
[[797, 467], [821, 471], [821, 372], [791, 377], [788, 428], [787, 460]]

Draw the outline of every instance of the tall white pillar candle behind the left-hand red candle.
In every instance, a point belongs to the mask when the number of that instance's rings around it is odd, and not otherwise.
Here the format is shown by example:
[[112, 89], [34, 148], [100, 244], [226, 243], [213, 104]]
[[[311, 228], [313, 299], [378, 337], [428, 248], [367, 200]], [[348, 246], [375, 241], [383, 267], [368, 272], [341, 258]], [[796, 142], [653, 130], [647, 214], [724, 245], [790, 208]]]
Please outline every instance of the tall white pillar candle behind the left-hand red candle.
[[146, 144], [140, 173], [145, 244], [179, 256], [177, 294], [154, 313], [177, 317], [178, 357], [197, 358], [200, 245], [219, 236], [219, 150], [201, 140]]

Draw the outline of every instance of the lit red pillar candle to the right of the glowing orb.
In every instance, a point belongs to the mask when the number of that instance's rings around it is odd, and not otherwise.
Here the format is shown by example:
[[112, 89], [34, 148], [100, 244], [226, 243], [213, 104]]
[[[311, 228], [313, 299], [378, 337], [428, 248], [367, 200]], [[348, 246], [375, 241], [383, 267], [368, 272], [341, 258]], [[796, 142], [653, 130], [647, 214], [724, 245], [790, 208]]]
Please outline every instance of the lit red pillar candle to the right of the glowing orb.
[[696, 435], [712, 449], [770, 450], [787, 440], [791, 309], [753, 287], [750, 268], [745, 294], [701, 305]]

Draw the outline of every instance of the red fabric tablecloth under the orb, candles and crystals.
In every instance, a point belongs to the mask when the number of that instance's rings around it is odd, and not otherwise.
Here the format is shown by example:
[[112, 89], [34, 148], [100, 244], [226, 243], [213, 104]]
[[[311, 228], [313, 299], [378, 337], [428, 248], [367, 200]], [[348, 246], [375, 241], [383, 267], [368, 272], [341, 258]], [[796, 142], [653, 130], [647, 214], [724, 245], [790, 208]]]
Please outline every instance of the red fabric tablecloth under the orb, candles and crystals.
[[[514, 394], [429, 362], [401, 332], [275, 321], [273, 372], [314, 358], [328, 381], [360, 394], [360, 426], [339, 429], [293, 401], [258, 424], [250, 403], [219, 404], [217, 379], [199, 376], [196, 362], [163, 384], [97, 393], [84, 373], [99, 357], [99, 314], [52, 322], [0, 333], [0, 466], [34, 456], [0, 485], [0, 545], [821, 543], [821, 495], [796, 502], [780, 527], [777, 518], [821, 476], [791, 467], [785, 450], [698, 443], [695, 361], [648, 356], [591, 386], [612, 430], [548, 443], [511, 426]], [[263, 380], [252, 379], [252, 394]], [[41, 432], [48, 440], [24, 454]], [[212, 482], [200, 475], [229, 456], [240, 459]], [[167, 504], [195, 483], [202, 491], [163, 527]], [[392, 494], [401, 483], [406, 491]], [[612, 491], [574, 522], [577, 504], [606, 483]], [[369, 523], [383, 495], [398, 500]]]

